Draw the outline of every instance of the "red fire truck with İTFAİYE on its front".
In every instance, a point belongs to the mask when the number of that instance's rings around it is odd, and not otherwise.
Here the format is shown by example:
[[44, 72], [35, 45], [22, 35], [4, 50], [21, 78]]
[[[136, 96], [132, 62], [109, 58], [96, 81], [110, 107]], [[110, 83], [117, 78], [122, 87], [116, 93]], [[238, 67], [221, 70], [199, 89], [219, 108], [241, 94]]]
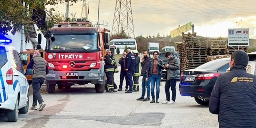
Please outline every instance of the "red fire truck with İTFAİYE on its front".
[[[90, 22], [65, 22], [54, 25], [44, 34], [49, 73], [46, 76], [48, 93], [55, 86], [69, 89], [72, 85], [95, 85], [96, 93], [105, 90], [104, 56], [109, 49], [109, 30], [89, 27]], [[38, 34], [37, 49], [42, 35]]]

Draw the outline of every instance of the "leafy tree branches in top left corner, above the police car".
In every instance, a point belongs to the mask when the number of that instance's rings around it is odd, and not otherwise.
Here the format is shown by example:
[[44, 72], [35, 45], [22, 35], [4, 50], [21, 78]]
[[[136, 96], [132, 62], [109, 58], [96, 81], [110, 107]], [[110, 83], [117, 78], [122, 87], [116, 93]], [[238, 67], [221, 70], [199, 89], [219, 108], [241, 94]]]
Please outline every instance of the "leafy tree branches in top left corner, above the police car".
[[[22, 1], [25, 2], [23, 6]], [[70, 6], [78, 0], [70, 0]], [[65, 3], [66, 0], [0, 0], [0, 34], [7, 35], [9, 31], [15, 34], [24, 26], [26, 34], [33, 26], [45, 26], [45, 6]]]

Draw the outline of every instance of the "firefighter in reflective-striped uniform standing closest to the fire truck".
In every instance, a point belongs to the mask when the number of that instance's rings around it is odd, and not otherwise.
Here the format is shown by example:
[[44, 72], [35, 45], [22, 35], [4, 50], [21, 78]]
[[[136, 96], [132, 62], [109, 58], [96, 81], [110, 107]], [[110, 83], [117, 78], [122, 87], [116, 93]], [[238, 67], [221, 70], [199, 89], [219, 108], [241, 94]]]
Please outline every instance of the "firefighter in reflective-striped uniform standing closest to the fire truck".
[[104, 57], [105, 61], [105, 74], [107, 76], [107, 89], [106, 92], [113, 93], [116, 92], [114, 90], [114, 72], [115, 72], [115, 65], [116, 61], [111, 59], [111, 51], [107, 50], [106, 56]]

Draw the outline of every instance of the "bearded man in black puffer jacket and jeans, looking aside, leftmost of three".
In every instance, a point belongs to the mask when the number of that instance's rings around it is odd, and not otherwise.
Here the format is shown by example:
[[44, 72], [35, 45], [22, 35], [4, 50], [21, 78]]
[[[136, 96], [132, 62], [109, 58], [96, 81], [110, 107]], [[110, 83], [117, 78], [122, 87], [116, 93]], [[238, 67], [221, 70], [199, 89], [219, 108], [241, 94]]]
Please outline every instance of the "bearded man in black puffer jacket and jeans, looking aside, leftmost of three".
[[[150, 70], [150, 53], [148, 51], [144, 52], [143, 58], [142, 58], [142, 71], [140, 76], [143, 76], [142, 78], [142, 96], [138, 98], [138, 101], [150, 101], [150, 81], [148, 79], [148, 72]], [[144, 99], [145, 93], [146, 93], [146, 87], [147, 87], [147, 98]]]

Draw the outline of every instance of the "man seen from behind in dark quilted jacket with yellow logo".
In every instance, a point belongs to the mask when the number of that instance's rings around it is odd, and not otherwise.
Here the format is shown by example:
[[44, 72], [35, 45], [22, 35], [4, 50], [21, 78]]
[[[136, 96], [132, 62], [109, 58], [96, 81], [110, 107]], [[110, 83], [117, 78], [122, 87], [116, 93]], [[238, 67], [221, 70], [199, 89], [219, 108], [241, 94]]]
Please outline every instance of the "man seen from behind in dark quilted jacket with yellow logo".
[[217, 79], [209, 110], [218, 114], [220, 128], [256, 128], [256, 76], [246, 73], [248, 54], [232, 53], [230, 71]]

